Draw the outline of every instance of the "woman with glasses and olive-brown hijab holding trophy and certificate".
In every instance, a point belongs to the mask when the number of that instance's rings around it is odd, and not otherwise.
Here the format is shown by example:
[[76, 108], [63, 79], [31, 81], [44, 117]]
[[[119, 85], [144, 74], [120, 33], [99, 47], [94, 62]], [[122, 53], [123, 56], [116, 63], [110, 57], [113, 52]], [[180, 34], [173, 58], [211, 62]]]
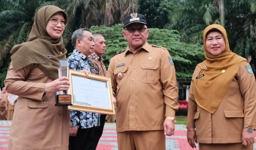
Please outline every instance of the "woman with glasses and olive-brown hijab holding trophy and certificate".
[[28, 42], [15, 45], [5, 86], [19, 96], [8, 141], [9, 150], [68, 150], [69, 111], [55, 106], [56, 91], [68, 90], [58, 78], [58, 62], [66, 60], [62, 34], [67, 14], [44, 6], [35, 15]]

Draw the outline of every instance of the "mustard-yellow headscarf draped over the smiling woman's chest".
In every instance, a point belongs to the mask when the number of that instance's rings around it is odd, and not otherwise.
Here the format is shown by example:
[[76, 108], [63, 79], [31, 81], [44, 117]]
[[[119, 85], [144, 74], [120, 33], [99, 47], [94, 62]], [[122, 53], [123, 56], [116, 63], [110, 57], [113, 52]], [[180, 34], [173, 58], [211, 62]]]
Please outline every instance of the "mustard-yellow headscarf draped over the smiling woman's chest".
[[[210, 54], [205, 45], [206, 34], [212, 29], [217, 29], [222, 33], [226, 44], [225, 51], [217, 56]], [[246, 59], [230, 51], [226, 30], [221, 25], [209, 25], [205, 28], [203, 39], [206, 60], [198, 64], [201, 71], [196, 76], [203, 74], [205, 76], [195, 79], [193, 92], [196, 103], [208, 112], [214, 113], [220, 106], [242, 61]]]

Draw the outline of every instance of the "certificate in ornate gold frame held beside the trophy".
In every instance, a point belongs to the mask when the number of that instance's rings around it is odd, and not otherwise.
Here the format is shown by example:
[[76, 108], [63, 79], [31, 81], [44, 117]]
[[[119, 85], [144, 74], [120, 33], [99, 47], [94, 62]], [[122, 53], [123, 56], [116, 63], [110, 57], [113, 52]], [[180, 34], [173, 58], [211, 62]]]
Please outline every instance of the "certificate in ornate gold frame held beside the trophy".
[[85, 111], [114, 115], [115, 109], [112, 102], [112, 87], [110, 78], [69, 70], [72, 106], [69, 110]]

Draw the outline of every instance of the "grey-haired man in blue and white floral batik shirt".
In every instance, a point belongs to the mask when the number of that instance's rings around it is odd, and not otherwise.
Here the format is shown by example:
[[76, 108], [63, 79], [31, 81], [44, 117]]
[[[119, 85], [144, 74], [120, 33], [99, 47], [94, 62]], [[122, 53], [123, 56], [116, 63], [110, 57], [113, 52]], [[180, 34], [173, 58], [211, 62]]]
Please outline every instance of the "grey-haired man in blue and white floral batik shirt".
[[[67, 58], [69, 69], [90, 71], [89, 55], [93, 52], [93, 35], [78, 29], [72, 35], [73, 53]], [[91, 72], [91, 71], [90, 71]], [[69, 150], [93, 150], [94, 130], [100, 125], [100, 114], [70, 111]]]

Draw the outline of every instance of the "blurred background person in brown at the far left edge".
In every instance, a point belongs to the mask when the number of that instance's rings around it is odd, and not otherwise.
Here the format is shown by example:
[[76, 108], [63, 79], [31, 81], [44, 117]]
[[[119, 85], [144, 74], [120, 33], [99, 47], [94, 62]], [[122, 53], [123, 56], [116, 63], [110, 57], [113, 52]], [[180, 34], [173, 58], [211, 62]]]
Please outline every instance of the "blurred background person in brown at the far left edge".
[[7, 110], [6, 104], [8, 102], [7, 97], [8, 93], [5, 90], [5, 87], [2, 88], [2, 92], [0, 93], [0, 120], [6, 120]]

